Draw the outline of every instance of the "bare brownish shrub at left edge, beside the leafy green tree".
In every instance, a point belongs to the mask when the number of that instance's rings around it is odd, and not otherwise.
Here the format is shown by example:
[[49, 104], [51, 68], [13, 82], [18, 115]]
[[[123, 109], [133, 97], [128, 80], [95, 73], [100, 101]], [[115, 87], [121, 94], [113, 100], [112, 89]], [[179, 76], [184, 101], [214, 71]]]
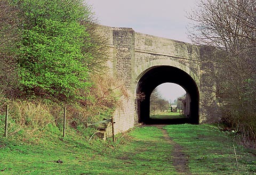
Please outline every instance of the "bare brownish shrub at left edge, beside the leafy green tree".
[[18, 11], [8, 1], [0, 1], [0, 98], [15, 96], [18, 89], [15, 46], [20, 40]]

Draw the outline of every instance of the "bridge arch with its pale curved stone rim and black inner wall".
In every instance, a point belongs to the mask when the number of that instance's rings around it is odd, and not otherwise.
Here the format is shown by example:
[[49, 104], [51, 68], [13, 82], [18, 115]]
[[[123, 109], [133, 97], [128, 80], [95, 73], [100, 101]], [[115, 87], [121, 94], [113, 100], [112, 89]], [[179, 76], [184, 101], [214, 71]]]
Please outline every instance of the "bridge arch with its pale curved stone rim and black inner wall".
[[[179, 62], [173, 60], [154, 60], [142, 64], [135, 71], [137, 77], [136, 94], [143, 94], [145, 98], [137, 98], [137, 115], [138, 121], [150, 123], [150, 95], [152, 91], [165, 82], [171, 82], [184, 88], [190, 98], [189, 115], [186, 123], [199, 123], [199, 79], [188, 68]], [[163, 120], [154, 120], [154, 123], [163, 122]], [[177, 121], [175, 121], [177, 122]], [[184, 121], [178, 121], [184, 122]], [[164, 123], [173, 123], [165, 120]]]

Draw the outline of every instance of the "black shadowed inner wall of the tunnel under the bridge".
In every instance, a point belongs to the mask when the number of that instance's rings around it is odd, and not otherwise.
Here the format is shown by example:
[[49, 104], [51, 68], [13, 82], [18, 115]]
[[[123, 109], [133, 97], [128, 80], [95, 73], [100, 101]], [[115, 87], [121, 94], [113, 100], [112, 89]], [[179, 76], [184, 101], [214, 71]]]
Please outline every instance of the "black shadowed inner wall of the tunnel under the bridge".
[[[186, 119], [178, 120], [152, 120], [150, 118], [150, 95], [153, 90], [166, 82], [180, 85], [186, 90], [189, 108]], [[193, 78], [185, 71], [173, 66], [154, 66], [140, 78], [137, 84], [137, 112], [139, 122], [146, 124], [175, 124], [175, 123], [199, 123], [199, 92]]]

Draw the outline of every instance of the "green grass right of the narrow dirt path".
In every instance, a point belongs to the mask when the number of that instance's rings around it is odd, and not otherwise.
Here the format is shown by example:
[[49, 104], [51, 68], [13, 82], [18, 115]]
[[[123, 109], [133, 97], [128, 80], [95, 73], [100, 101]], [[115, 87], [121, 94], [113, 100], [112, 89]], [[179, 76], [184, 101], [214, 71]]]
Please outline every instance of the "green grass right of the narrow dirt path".
[[256, 151], [236, 145], [217, 127], [181, 124], [166, 126], [165, 129], [189, 155], [193, 174], [256, 174]]

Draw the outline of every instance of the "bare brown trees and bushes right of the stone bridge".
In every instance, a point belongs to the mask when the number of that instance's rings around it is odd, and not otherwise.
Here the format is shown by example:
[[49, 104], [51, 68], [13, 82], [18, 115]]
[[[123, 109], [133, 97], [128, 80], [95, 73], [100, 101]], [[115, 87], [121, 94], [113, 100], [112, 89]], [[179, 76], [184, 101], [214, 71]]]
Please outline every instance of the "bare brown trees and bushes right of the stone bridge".
[[[256, 2], [253, 0], [198, 1], [188, 18], [190, 37], [211, 48], [205, 63], [214, 65], [216, 94], [222, 122], [255, 148], [256, 140]], [[214, 48], [213, 48], [214, 47]], [[214, 98], [214, 97], [213, 97]]]

